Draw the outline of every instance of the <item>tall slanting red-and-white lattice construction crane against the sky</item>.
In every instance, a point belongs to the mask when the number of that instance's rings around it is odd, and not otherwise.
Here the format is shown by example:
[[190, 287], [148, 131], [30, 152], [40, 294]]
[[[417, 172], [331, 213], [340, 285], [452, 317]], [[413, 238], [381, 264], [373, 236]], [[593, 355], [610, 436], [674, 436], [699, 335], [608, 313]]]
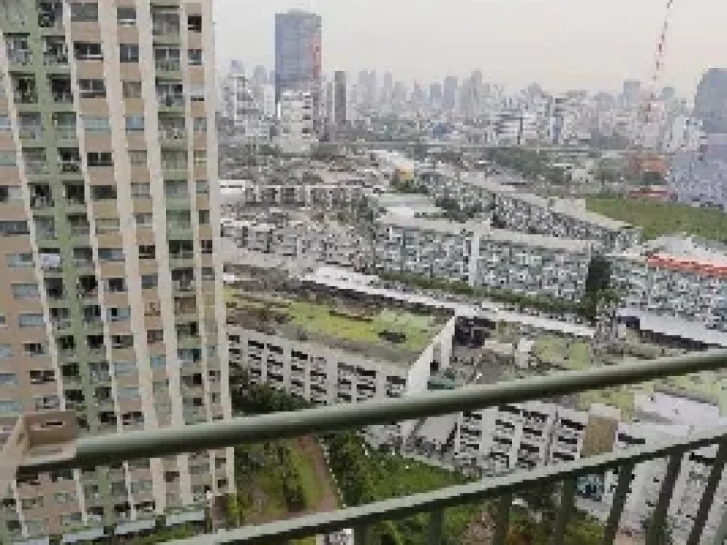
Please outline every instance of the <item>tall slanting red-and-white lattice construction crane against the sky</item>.
[[656, 142], [647, 142], [648, 131], [653, 128], [656, 121], [656, 92], [659, 82], [662, 79], [664, 69], [664, 59], [667, 52], [667, 38], [669, 36], [669, 27], [672, 17], [672, 8], [674, 0], [667, 0], [666, 14], [664, 15], [664, 23], [662, 31], [659, 34], [659, 43], [656, 45], [654, 55], [654, 66], [651, 72], [651, 78], [646, 89], [646, 97], [640, 105], [637, 114], [637, 127], [635, 138], [634, 170], [637, 174], [644, 174], [647, 171], [663, 171], [664, 156], [658, 150], [650, 149], [656, 145]]

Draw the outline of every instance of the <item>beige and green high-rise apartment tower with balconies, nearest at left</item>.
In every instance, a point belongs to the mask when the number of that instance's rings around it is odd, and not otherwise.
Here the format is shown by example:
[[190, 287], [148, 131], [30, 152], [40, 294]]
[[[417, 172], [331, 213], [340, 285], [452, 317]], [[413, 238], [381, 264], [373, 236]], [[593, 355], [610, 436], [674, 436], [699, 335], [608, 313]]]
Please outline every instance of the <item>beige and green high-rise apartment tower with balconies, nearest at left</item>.
[[[212, 1], [4, 1], [0, 40], [0, 416], [231, 416]], [[19, 480], [0, 542], [153, 528], [233, 485], [231, 448]]]

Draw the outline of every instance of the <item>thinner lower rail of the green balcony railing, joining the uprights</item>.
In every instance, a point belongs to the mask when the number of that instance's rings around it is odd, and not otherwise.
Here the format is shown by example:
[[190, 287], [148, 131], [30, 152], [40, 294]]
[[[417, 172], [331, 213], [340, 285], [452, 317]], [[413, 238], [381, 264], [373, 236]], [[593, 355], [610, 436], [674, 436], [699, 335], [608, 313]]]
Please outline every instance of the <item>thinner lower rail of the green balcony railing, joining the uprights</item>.
[[[670, 456], [673, 453], [696, 450], [727, 437], [727, 427], [697, 433], [680, 440], [664, 441], [654, 445], [623, 449], [616, 452], [590, 456], [576, 461], [539, 467], [526, 472], [516, 472], [492, 477], [478, 483], [450, 486], [438, 491], [412, 494], [402, 498], [377, 501], [363, 506], [339, 509], [333, 512], [305, 515], [291, 520], [280, 520], [263, 525], [247, 526], [234, 530], [222, 530], [193, 538], [169, 541], [173, 545], [212, 544], [267, 544], [271, 538], [276, 543], [285, 539], [305, 538], [332, 533], [344, 528], [371, 525], [382, 520], [395, 520], [421, 512], [433, 512], [462, 504], [499, 498], [529, 490], [535, 485], [560, 483], [582, 475], [606, 472], [608, 469], [633, 467], [643, 461]], [[622, 470], [623, 475], [630, 475]], [[620, 475], [620, 474], [619, 474]], [[626, 479], [626, 477], [623, 477]]]

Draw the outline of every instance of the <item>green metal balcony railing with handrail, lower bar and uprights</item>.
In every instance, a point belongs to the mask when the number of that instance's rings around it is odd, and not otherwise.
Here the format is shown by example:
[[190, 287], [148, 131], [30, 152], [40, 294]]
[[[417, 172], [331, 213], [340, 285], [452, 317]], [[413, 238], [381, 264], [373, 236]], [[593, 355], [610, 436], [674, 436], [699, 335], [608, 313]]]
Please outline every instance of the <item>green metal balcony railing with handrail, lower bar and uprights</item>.
[[[727, 350], [701, 352], [679, 358], [662, 358], [647, 363], [628, 363], [605, 366], [589, 371], [571, 371], [550, 376], [538, 376], [513, 382], [467, 387], [454, 391], [431, 392], [395, 400], [371, 400], [356, 405], [335, 405], [312, 408], [294, 413], [273, 413], [265, 416], [243, 417], [227, 421], [206, 422], [188, 427], [153, 429], [128, 432], [124, 435], [82, 437], [68, 442], [51, 455], [26, 453], [17, 461], [21, 475], [55, 471], [73, 467], [95, 467], [121, 463], [129, 459], [169, 456], [200, 449], [222, 448], [232, 445], [260, 443], [298, 437], [310, 433], [321, 434], [340, 429], [358, 428], [391, 421], [421, 419], [449, 413], [475, 411], [511, 403], [545, 397], [569, 395], [589, 389], [636, 384], [667, 376], [682, 376], [700, 371], [716, 371], [727, 364]], [[22, 436], [22, 434], [18, 434]], [[47, 443], [46, 443], [47, 444]], [[727, 463], [727, 428], [710, 429], [678, 440], [619, 450], [577, 461], [538, 467], [509, 475], [491, 477], [466, 485], [457, 485], [439, 491], [418, 493], [402, 498], [377, 501], [363, 506], [339, 509], [334, 512], [309, 514], [303, 517], [251, 525], [234, 530], [218, 531], [214, 536], [198, 536], [177, 544], [225, 543], [283, 543], [288, 539], [305, 538], [353, 528], [356, 545], [368, 544], [374, 523], [396, 520], [419, 513], [429, 514], [429, 544], [443, 542], [443, 517], [446, 509], [461, 504], [496, 500], [495, 545], [505, 544], [510, 520], [513, 495], [542, 487], [563, 483], [561, 502], [553, 530], [553, 543], [563, 544], [569, 516], [574, 513], [577, 479], [586, 475], [603, 474], [618, 470], [613, 502], [603, 530], [603, 543], [612, 544], [619, 529], [629, 493], [632, 472], [636, 464], [666, 458], [667, 468], [659, 488], [659, 497], [651, 514], [646, 533], [646, 544], [659, 544], [661, 530], [667, 521], [672, 493], [678, 481], [682, 460], [690, 451], [718, 445], [715, 459], [707, 470], [707, 479], [701, 491], [693, 525], [686, 543], [702, 543], [707, 516], [722, 479]], [[12, 446], [12, 445], [11, 445]], [[6, 447], [7, 450], [7, 447]], [[11, 460], [11, 463], [14, 463]], [[9, 483], [0, 485], [7, 487]], [[727, 536], [727, 515], [718, 529], [715, 543]]]

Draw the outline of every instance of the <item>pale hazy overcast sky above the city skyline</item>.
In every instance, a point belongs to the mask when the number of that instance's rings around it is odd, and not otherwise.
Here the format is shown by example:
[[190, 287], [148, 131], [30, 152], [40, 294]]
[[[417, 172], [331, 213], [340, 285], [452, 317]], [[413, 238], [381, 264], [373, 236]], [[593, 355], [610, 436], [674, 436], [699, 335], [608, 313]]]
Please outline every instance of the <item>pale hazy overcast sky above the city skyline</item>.
[[[324, 73], [376, 68], [428, 84], [481, 70], [507, 86], [619, 89], [651, 76], [666, 0], [213, 0], [217, 64], [273, 68], [276, 12], [323, 17]], [[662, 84], [691, 98], [727, 67], [727, 1], [675, 0]], [[380, 77], [380, 76], [379, 76]]]

